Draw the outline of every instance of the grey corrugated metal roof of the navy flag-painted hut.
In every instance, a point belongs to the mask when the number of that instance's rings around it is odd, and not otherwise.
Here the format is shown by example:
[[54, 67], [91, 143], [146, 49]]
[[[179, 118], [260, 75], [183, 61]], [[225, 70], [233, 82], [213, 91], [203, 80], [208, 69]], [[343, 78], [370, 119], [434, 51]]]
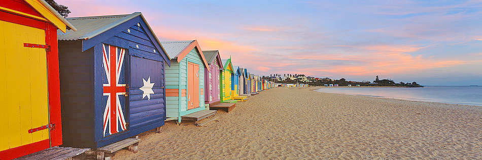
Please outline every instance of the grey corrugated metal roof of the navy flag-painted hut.
[[[136, 13], [140, 15], [140, 13]], [[130, 15], [66, 18], [69, 23], [77, 28], [77, 31], [69, 30], [67, 33], [62, 33], [60, 30], [57, 30], [57, 38], [58, 40], [89, 39], [127, 21], [128, 16], [129, 18], [132, 17]]]

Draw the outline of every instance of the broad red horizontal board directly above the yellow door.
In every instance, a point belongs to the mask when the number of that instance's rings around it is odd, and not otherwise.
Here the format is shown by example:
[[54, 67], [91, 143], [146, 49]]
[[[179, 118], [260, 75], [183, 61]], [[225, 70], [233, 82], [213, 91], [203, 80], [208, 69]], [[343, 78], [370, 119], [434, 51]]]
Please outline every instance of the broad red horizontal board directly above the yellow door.
[[[4, 11], [0, 11], [0, 20], [12, 22], [12, 23], [16, 23], [16, 24], [21, 24], [21, 25], [25, 25], [25, 26], [30, 26], [30, 27], [34, 27], [34, 28], [39, 28], [39, 29], [45, 29], [45, 25], [46, 25], [45, 22], [38, 21], [38, 20], [35, 20], [35, 19], [31, 19], [31, 18], [27, 18], [27, 17], [23, 17], [23, 16], [19, 16], [19, 15], [12, 14], [12, 13], [9, 13], [9, 12], [4, 12]], [[57, 34], [55, 34], [55, 35], [57, 35]]]

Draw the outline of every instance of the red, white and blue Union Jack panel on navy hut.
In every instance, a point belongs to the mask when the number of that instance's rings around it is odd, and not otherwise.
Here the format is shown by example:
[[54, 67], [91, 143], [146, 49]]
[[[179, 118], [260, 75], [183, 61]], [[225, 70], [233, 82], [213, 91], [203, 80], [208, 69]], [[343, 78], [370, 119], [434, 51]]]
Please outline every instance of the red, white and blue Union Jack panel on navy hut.
[[104, 107], [104, 136], [127, 130], [125, 49], [102, 44], [102, 63], [105, 71], [102, 96]]

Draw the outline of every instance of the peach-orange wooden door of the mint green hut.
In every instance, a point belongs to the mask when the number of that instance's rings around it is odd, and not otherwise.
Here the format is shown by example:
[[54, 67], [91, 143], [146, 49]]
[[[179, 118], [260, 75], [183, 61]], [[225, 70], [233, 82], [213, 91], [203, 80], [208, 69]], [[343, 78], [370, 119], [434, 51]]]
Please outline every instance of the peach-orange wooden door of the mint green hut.
[[199, 65], [188, 62], [187, 64], [187, 109], [199, 107]]

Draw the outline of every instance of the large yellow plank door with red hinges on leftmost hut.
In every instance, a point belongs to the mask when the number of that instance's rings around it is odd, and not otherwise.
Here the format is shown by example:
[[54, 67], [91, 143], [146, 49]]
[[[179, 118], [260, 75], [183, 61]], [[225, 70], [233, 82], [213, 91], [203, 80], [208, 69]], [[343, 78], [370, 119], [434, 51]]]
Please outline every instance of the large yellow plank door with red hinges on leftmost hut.
[[0, 151], [49, 139], [45, 31], [0, 21]]

